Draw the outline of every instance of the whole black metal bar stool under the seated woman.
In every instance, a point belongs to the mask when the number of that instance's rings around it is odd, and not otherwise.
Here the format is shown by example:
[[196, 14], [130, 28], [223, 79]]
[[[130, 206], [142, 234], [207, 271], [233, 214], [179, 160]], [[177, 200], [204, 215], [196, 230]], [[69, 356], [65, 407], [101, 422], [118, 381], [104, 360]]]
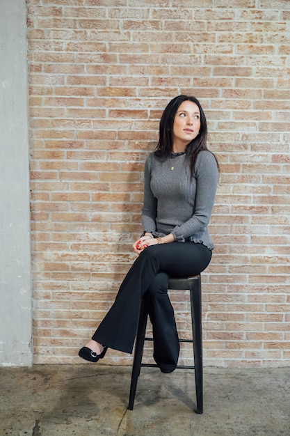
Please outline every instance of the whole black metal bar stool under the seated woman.
[[[194, 369], [195, 370], [195, 394], [196, 394], [196, 412], [202, 414], [203, 412], [203, 371], [202, 371], [202, 293], [201, 293], [201, 277], [170, 277], [168, 281], [168, 289], [174, 290], [189, 290], [191, 297], [191, 325], [192, 325], [192, 339], [179, 338], [179, 342], [193, 343], [193, 359], [194, 366], [190, 365], [177, 365], [181, 369]], [[143, 364], [143, 349], [145, 341], [153, 341], [153, 338], [145, 336], [147, 327], [148, 313], [145, 303], [140, 304], [138, 330], [136, 335], [134, 361], [131, 374], [131, 387], [129, 394], [128, 409], [133, 410], [134, 400], [136, 396], [136, 388], [138, 377], [140, 375], [140, 368], [156, 367], [156, 364]]]

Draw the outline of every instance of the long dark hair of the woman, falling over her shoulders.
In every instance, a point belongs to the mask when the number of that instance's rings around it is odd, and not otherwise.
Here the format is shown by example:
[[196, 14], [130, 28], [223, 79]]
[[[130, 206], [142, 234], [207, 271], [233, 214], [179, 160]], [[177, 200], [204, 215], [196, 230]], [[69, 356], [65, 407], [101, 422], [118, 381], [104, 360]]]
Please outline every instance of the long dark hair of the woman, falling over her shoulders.
[[[154, 151], [155, 155], [166, 159], [170, 155], [173, 147], [173, 123], [177, 110], [185, 101], [195, 103], [200, 109], [200, 132], [198, 136], [188, 143], [186, 147], [186, 157], [190, 162], [191, 176], [193, 176], [195, 161], [198, 157], [198, 153], [201, 150], [208, 150], [207, 148], [207, 118], [205, 118], [202, 106], [197, 98], [191, 95], [178, 95], [173, 98], [163, 111], [161, 120], [159, 123], [159, 141]], [[213, 153], [214, 154], [214, 153]], [[216, 156], [214, 156], [216, 158]], [[218, 160], [216, 159], [218, 165]], [[219, 166], [218, 166], [219, 168]]]

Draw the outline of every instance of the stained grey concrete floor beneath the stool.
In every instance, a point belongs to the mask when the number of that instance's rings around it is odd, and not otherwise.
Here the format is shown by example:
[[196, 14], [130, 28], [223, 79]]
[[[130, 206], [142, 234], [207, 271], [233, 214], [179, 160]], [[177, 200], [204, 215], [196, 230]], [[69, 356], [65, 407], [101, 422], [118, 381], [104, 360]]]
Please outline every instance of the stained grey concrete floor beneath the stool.
[[204, 368], [204, 414], [194, 374], [142, 368], [127, 410], [131, 368], [0, 368], [0, 435], [290, 435], [290, 368]]

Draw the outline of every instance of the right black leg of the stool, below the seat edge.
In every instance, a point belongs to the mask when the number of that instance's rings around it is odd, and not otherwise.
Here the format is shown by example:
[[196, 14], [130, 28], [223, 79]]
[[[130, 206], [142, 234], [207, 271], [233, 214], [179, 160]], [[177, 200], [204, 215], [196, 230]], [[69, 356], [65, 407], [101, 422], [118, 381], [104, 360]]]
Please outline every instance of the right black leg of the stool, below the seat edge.
[[195, 365], [195, 390], [197, 413], [203, 412], [202, 375], [202, 295], [201, 279], [191, 281], [191, 320], [193, 328], [193, 355]]

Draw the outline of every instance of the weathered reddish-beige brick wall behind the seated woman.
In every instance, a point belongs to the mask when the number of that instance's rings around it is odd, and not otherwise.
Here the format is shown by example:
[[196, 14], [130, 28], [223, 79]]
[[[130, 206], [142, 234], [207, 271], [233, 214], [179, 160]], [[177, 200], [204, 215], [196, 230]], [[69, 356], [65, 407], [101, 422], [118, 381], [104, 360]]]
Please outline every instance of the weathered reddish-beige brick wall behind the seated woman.
[[[27, 4], [35, 363], [81, 363], [135, 259], [161, 112], [189, 93], [222, 172], [204, 364], [288, 366], [290, 2]], [[188, 295], [171, 295], [188, 336]]]

